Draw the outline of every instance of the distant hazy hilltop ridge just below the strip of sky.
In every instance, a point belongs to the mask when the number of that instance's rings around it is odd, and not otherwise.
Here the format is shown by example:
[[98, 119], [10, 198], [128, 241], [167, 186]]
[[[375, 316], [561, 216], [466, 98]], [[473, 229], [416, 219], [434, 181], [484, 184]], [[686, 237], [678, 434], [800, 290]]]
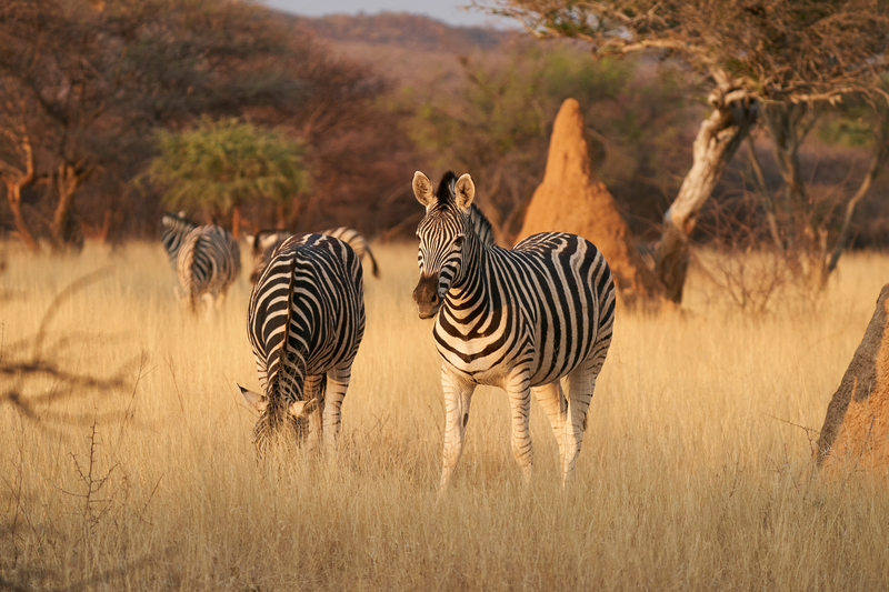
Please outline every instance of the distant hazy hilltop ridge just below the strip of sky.
[[301, 17], [299, 21], [319, 37], [331, 41], [363, 42], [424, 51], [492, 49], [517, 34], [480, 27], [450, 27], [428, 17], [406, 12]]

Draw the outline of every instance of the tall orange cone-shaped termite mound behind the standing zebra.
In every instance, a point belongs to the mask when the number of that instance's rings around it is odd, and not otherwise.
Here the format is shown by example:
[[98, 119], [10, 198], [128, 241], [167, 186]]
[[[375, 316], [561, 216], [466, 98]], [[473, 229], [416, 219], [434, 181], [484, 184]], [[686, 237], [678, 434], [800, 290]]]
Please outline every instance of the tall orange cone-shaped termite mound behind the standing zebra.
[[591, 170], [580, 106], [566, 99], [556, 116], [543, 182], [535, 191], [519, 238], [570, 232], [602, 252], [625, 303], [659, 300], [662, 287], [642, 262], [615, 198]]

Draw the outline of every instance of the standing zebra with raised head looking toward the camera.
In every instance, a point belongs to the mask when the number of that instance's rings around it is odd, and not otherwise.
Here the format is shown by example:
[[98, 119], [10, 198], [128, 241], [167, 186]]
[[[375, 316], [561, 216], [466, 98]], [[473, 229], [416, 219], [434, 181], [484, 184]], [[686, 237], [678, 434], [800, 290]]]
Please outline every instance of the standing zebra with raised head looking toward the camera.
[[472, 204], [469, 174], [447, 172], [433, 193], [418, 171], [413, 193], [426, 207], [417, 228], [413, 300], [421, 319], [436, 319], [432, 334], [442, 358], [447, 422], [439, 493], [460, 459], [477, 384], [509, 394], [512, 453], [527, 482], [535, 393], [559, 442], [565, 486], [611, 343], [615, 283], [605, 258], [586, 239], [560, 232], [535, 234], [511, 250], [497, 247], [490, 223]]

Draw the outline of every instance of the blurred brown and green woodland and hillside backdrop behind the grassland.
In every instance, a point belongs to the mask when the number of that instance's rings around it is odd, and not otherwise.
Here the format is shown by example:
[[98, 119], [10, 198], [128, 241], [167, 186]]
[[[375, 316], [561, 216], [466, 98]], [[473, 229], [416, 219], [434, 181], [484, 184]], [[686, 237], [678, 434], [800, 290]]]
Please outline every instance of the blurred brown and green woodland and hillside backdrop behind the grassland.
[[[409, 14], [296, 18], [219, 0], [11, 0], [0, 37], [0, 232], [27, 239], [18, 209], [36, 248], [156, 237], [164, 188], [133, 179], [159, 153], [152, 130], [187, 131], [201, 117], [276, 129], [306, 149], [309, 189], [284, 203], [248, 200], [246, 228], [347, 224], [407, 238], [418, 215], [411, 174], [452, 168], [473, 174], [508, 243], [569, 96], [585, 110], [595, 169], [649, 240], [691, 165], [709, 88], [662, 54], [593, 61], [583, 41]], [[813, 113], [798, 172], [836, 233], [879, 117], [855, 100]], [[730, 221], [733, 235], [749, 225], [756, 247], [773, 243], [761, 197], [782, 193], [786, 171], [765, 124], [753, 136], [761, 179], [741, 147], [699, 214], [697, 242], [725, 242]], [[853, 244], [885, 247], [887, 187], [877, 177], [860, 201]], [[233, 214], [189, 213], [227, 225]]]

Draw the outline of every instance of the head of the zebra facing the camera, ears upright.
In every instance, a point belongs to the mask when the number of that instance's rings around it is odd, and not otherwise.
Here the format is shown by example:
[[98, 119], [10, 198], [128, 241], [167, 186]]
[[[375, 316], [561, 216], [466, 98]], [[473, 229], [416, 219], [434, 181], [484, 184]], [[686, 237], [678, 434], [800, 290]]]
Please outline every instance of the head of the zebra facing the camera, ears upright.
[[420, 319], [431, 319], [441, 308], [444, 294], [460, 278], [463, 243], [467, 235], [471, 235], [467, 229], [470, 228], [476, 185], [468, 173], [457, 179], [448, 171], [433, 193], [429, 178], [417, 171], [413, 194], [426, 207], [426, 215], [417, 227], [420, 281], [413, 290], [413, 301]]

